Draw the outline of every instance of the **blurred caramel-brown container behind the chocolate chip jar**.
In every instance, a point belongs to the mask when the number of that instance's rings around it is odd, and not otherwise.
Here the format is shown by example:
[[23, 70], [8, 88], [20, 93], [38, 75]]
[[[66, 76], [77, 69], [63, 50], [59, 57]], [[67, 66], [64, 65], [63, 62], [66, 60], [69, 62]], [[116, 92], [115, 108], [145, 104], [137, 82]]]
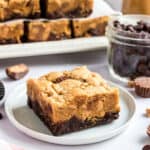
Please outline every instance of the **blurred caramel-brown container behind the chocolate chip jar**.
[[124, 14], [150, 15], [150, 0], [124, 0], [122, 11]]

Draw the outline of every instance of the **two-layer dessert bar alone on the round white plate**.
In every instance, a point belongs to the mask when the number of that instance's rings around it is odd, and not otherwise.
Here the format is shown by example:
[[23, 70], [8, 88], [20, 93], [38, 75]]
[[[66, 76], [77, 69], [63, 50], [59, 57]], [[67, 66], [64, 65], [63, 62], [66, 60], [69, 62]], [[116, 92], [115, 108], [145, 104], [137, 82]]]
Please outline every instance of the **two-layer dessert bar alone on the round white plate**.
[[85, 66], [27, 82], [28, 104], [53, 135], [110, 123], [119, 116], [119, 91]]

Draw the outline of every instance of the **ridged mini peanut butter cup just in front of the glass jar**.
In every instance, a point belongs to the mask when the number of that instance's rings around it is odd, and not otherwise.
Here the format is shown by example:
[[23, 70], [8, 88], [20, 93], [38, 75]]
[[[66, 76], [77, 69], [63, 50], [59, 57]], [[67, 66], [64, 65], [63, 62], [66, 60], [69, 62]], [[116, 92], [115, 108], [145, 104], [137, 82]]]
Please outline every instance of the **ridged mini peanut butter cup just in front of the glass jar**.
[[150, 77], [138, 77], [131, 82], [132, 87], [138, 96], [149, 98], [150, 97]]

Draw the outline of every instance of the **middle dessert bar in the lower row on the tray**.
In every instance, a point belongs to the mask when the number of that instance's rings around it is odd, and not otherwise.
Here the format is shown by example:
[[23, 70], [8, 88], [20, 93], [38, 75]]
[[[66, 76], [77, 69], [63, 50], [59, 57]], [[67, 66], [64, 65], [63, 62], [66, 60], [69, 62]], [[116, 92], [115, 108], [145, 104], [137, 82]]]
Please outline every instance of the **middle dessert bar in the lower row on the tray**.
[[70, 21], [60, 20], [32, 20], [27, 23], [27, 41], [53, 41], [71, 38]]

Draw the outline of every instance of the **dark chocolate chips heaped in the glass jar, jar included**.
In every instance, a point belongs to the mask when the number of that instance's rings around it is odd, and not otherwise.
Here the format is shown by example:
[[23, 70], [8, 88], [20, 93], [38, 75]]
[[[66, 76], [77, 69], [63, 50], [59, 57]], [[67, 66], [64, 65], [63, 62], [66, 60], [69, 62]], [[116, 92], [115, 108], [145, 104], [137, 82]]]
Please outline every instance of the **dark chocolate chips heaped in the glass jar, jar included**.
[[150, 77], [150, 23], [142, 19], [132, 23], [133, 16], [127, 16], [125, 21], [124, 16], [116, 17], [120, 19], [109, 23], [107, 27], [111, 72], [126, 81], [139, 76]]

